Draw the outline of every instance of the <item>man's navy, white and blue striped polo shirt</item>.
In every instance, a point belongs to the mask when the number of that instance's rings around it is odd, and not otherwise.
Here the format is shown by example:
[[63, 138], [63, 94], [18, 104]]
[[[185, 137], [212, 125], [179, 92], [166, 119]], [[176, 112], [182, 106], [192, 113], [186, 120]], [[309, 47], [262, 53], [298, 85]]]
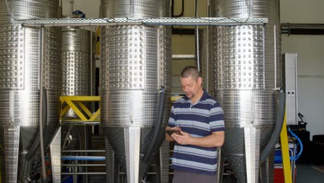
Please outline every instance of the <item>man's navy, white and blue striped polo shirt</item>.
[[[183, 96], [172, 105], [168, 127], [179, 126], [192, 137], [206, 137], [224, 131], [224, 112], [219, 103], [206, 91], [195, 104]], [[174, 144], [172, 168], [180, 171], [215, 175], [217, 148]]]

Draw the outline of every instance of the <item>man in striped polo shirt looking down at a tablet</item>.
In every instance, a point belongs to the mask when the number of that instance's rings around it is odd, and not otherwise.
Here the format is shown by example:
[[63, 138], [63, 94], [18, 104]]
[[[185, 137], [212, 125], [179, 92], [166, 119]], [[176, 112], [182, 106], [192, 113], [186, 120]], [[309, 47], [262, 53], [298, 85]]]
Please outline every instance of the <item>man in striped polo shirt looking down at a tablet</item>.
[[166, 130], [168, 141], [175, 141], [172, 157], [173, 183], [217, 182], [217, 147], [224, 143], [223, 110], [201, 87], [202, 78], [195, 67], [181, 72], [186, 96], [172, 105]]

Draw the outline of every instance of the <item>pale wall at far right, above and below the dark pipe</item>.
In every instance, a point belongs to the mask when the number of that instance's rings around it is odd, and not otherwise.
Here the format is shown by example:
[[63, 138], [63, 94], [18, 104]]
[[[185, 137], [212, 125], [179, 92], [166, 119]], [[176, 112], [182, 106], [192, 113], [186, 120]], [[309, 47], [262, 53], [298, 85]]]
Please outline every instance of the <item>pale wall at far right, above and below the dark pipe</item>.
[[[280, 1], [281, 23], [324, 23], [323, 0]], [[297, 53], [298, 112], [311, 139], [324, 134], [324, 35], [282, 35], [282, 53]]]

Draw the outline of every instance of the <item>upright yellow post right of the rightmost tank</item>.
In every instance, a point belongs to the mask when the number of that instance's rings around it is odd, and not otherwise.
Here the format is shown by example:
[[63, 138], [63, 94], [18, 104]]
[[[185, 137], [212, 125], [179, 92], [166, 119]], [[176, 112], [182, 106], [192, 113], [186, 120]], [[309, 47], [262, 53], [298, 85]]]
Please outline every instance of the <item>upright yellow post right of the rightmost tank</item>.
[[282, 130], [280, 133], [281, 141], [281, 153], [282, 153], [282, 167], [284, 171], [285, 183], [291, 183], [291, 166], [290, 166], [290, 156], [289, 156], [289, 146], [288, 146], [288, 135], [287, 135], [287, 116], [285, 112], [284, 123], [282, 125]]

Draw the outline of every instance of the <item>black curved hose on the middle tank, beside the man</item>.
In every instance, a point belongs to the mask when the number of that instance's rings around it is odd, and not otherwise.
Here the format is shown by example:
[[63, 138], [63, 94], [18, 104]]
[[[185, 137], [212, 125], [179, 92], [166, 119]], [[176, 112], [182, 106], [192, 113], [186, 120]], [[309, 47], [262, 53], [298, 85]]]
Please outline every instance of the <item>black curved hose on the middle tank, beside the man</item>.
[[[161, 89], [161, 94], [159, 97], [159, 108], [158, 113], [156, 116], [156, 122], [153, 129], [153, 139], [147, 148], [147, 153], [143, 156], [142, 164], [141, 164], [141, 173], [142, 177], [145, 174], [145, 169], [147, 167], [147, 164], [150, 161], [150, 157], [156, 152], [156, 150], [161, 146], [161, 143], [163, 142], [163, 139], [165, 138], [165, 132], [162, 130], [162, 123], [163, 123], [163, 116], [164, 116], [164, 108], [165, 108], [165, 89]], [[163, 139], [161, 140], [161, 138]]]

